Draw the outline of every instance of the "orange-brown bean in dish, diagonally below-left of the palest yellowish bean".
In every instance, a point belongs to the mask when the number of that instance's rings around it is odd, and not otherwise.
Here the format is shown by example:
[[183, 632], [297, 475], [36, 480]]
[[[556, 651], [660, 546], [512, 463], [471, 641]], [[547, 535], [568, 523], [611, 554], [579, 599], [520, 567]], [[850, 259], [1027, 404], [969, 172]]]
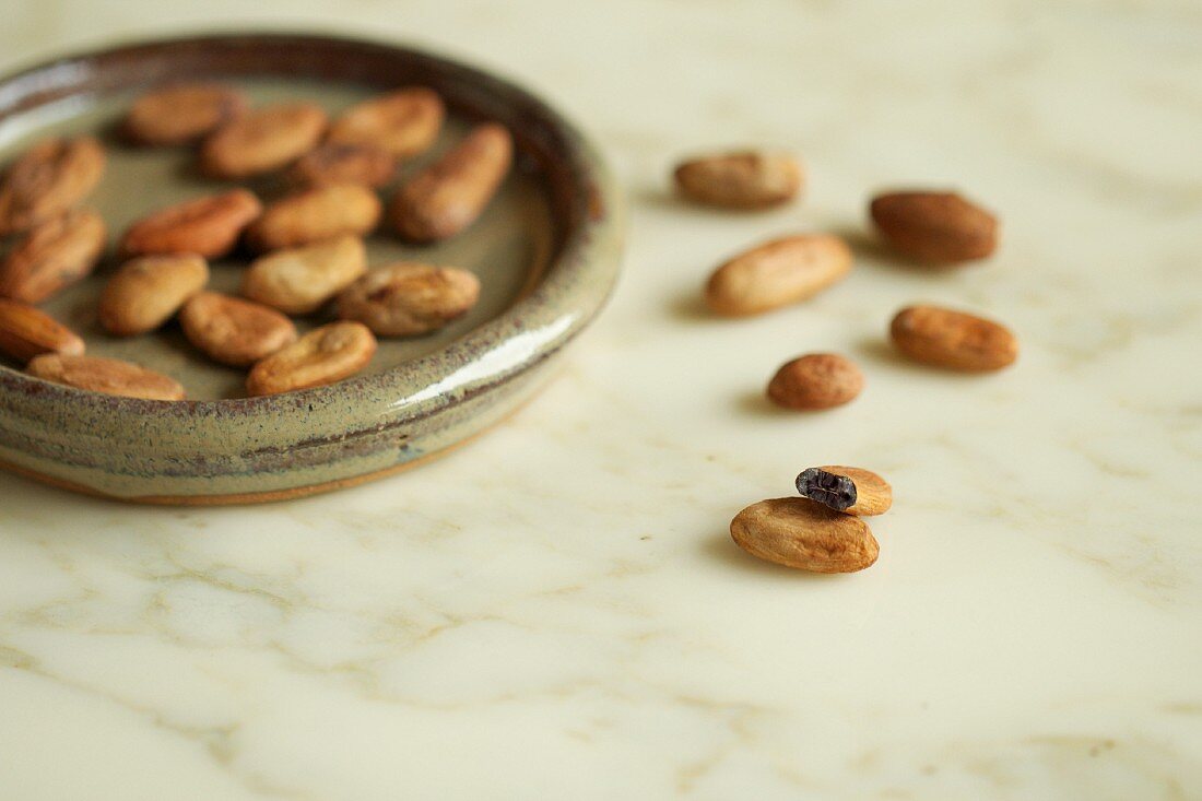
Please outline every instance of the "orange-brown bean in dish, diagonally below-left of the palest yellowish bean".
[[275, 309], [216, 292], [194, 295], [179, 325], [197, 350], [231, 367], [250, 367], [297, 340], [296, 326]]

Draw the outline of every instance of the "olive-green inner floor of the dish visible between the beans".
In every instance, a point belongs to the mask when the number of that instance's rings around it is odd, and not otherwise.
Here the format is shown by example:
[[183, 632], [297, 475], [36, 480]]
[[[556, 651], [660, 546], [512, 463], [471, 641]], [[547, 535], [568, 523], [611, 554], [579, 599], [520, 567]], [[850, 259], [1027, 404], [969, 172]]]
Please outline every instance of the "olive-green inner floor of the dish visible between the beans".
[[[252, 103], [308, 100], [322, 105], [332, 115], [355, 102], [379, 94], [379, 89], [317, 81], [236, 79], [227, 81], [250, 96]], [[88, 354], [137, 362], [179, 380], [191, 399], [244, 397], [245, 372], [206, 360], [184, 338], [172, 321], [166, 327], [132, 338], [107, 334], [96, 318], [96, 299], [112, 272], [119, 266], [113, 250], [121, 232], [135, 220], [172, 203], [244, 185], [264, 202], [282, 197], [288, 186], [279, 176], [234, 184], [208, 179], [196, 170], [194, 148], [135, 148], [114, 135], [125, 109], [139, 93], [101, 99], [75, 96], [14, 114], [0, 123], [0, 164], [7, 165], [24, 148], [47, 136], [91, 134], [105, 144], [108, 165], [103, 180], [84, 206], [96, 209], [109, 230], [108, 253], [96, 271], [41, 304], [88, 345]], [[398, 179], [381, 190], [387, 204], [398, 184], [436, 159], [468, 130], [468, 123], [451, 117], [438, 143], [426, 154], [405, 162]], [[439, 350], [472, 328], [508, 309], [537, 284], [552, 256], [553, 218], [551, 206], [532, 160], [520, 158], [496, 197], [481, 218], [448, 242], [411, 247], [389, 235], [387, 221], [368, 238], [369, 266], [397, 260], [415, 260], [470, 269], [481, 280], [481, 298], [464, 318], [439, 332], [423, 337], [381, 339], [375, 358], [365, 369], [379, 373], [403, 368], [405, 362]], [[2, 244], [7, 250], [16, 238]], [[242, 273], [254, 255], [236, 251], [210, 263], [209, 289], [237, 295]], [[293, 318], [303, 333], [334, 319], [327, 307], [308, 318]], [[0, 364], [19, 369], [5, 361]]]

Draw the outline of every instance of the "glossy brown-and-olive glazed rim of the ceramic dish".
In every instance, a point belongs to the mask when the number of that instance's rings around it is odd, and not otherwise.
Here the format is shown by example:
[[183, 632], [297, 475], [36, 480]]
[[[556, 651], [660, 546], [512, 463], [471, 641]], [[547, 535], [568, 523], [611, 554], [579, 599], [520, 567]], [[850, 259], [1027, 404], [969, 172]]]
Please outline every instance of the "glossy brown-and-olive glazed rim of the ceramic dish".
[[[215, 400], [144, 400], [76, 390], [0, 367], [0, 391], [36, 396], [41, 402], [70, 404], [91, 420], [131, 417], [145, 420], [189, 420], [195, 417], [236, 416], [257, 428], [252, 437], [261, 445], [275, 439], [273, 419], [292, 417], [298, 410], [345, 410], [345, 425], [337, 432], [310, 432], [309, 443], [328, 441], [331, 435], [345, 438], [356, 432], [377, 433], [383, 428], [407, 425], [462, 403], [504, 384], [545, 361], [573, 339], [601, 310], [617, 283], [615, 249], [621, 239], [620, 210], [612, 185], [596, 149], [575, 125], [564, 119], [525, 89], [459, 61], [403, 44], [351, 36], [292, 32], [206, 34], [162, 38], [135, 44], [100, 48], [43, 63], [0, 78], [0, 123], [10, 115], [26, 112], [56, 100], [95, 95], [89, 78], [106, 78], [106, 71], [120, 63], [138, 65], [161, 61], [171, 65], [184, 58], [204, 58], [214, 49], [280, 53], [307, 48], [323, 51], [345, 48], [364, 58], [399, 58], [412, 64], [412, 72], [450, 73], [469, 89], [447, 96], [453, 111], [472, 117], [490, 117], [510, 126], [519, 153], [540, 161], [542, 183], [557, 192], [552, 203], [557, 248], [537, 285], [496, 318], [482, 324], [432, 354], [387, 370], [352, 376], [328, 386], [276, 396], [227, 398]], [[228, 55], [233, 58], [233, 55]], [[198, 78], [215, 77], [300, 77], [355, 82], [356, 77], [319, 72], [328, 65], [314, 61], [314, 72], [281, 75], [270, 69], [237, 72], [215, 70]], [[118, 70], [119, 71], [119, 70]], [[151, 70], [153, 71], [153, 70]], [[165, 73], [169, 70], [162, 67]], [[142, 85], [108, 78], [107, 91], [123, 91]], [[379, 84], [358, 77], [359, 83]], [[143, 82], [153, 85], [151, 78]], [[405, 78], [405, 83], [421, 83]], [[393, 83], [392, 85], [398, 85]], [[103, 91], [100, 94], [105, 94]], [[465, 96], [470, 95], [470, 96]], [[468, 103], [471, 105], [468, 105]], [[481, 114], [480, 109], [487, 109]], [[518, 125], [517, 123], [520, 123]], [[565, 236], [566, 232], [566, 236]], [[464, 236], [470, 236], [470, 231]], [[605, 286], [599, 291], [596, 284]], [[433, 380], [423, 375], [438, 376]], [[255, 423], [262, 423], [256, 426]], [[246, 432], [248, 428], [243, 428]], [[249, 443], [248, 443], [249, 444]], [[299, 443], [298, 445], [303, 445]], [[231, 443], [190, 443], [192, 449], [230, 452]]]

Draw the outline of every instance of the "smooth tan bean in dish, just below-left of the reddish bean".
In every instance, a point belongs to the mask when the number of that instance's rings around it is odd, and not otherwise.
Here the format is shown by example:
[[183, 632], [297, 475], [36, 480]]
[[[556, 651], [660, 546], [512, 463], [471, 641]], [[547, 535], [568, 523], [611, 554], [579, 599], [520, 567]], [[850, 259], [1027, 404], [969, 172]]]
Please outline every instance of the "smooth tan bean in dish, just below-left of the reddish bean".
[[209, 266], [196, 255], [127, 261], [100, 295], [100, 322], [118, 337], [154, 331], [208, 283]]

